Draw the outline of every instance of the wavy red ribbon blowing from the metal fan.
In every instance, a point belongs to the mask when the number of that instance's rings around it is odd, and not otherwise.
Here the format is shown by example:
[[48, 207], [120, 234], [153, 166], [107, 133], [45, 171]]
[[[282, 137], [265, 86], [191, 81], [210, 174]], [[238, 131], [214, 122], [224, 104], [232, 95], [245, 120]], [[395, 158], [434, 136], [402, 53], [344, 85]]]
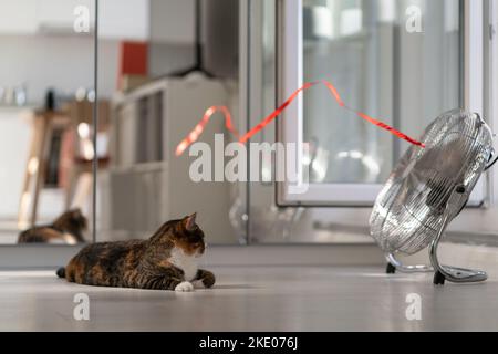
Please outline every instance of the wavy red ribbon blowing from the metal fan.
[[255, 127], [252, 127], [249, 132], [247, 132], [243, 136], [239, 137], [239, 133], [237, 132], [237, 129], [234, 127], [234, 124], [231, 122], [231, 115], [230, 115], [230, 111], [228, 111], [228, 108], [226, 106], [210, 106], [209, 108], [206, 110], [206, 112], [204, 113], [203, 118], [200, 119], [199, 123], [197, 123], [197, 125], [195, 126], [195, 128], [181, 140], [181, 143], [178, 144], [178, 146], [176, 147], [176, 156], [180, 156], [185, 149], [190, 146], [190, 144], [195, 143], [200, 134], [203, 134], [204, 128], [206, 127], [206, 125], [209, 123], [210, 117], [216, 113], [216, 112], [221, 112], [225, 116], [225, 126], [226, 128], [234, 134], [240, 143], [246, 143], [248, 139], [250, 139], [255, 134], [257, 134], [259, 131], [261, 131], [262, 128], [264, 128], [268, 124], [271, 123], [271, 121], [273, 121], [274, 118], [277, 118], [282, 112], [283, 110], [286, 110], [291, 103], [292, 101], [295, 100], [295, 97], [303, 91], [319, 84], [322, 83], [326, 86], [326, 88], [330, 91], [330, 93], [332, 94], [332, 96], [334, 96], [335, 101], [338, 102], [338, 104], [343, 107], [344, 110], [347, 110], [350, 112], [353, 112], [354, 114], [356, 114], [356, 116], [359, 116], [362, 119], [365, 119], [366, 122], [370, 122], [387, 132], [390, 132], [391, 134], [393, 134], [394, 136], [402, 138], [411, 144], [421, 146], [421, 147], [425, 147], [424, 144], [422, 144], [421, 142], [407, 136], [406, 134], [403, 134], [400, 131], [396, 131], [395, 128], [393, 128], [392, 126], [377, 121], [373, 117], [371, 117], [370, 115], [363, 113], [363, 112], [359, 112], [355, 111], [349, 106], [346, 106], [344, 104], [344, 101], [342, 101], [341, 96], [339, 95], [338, 90], [334, 87], [334, 85], [332, 85], [330, 82], [323, 80], [323, 81], [317, 81], [317, 82], [309, 82], [305, 83], [304, 85], [302, 85], [301, 87], [299, 87], [298, 90], [295, 90], [289, 98], [287, 98], [286, 102], [283, 102], [277, 110], [274, 110], [270, 115], [268, 115], [264, 119], [262, 119], [258, 125], [256, 125]]

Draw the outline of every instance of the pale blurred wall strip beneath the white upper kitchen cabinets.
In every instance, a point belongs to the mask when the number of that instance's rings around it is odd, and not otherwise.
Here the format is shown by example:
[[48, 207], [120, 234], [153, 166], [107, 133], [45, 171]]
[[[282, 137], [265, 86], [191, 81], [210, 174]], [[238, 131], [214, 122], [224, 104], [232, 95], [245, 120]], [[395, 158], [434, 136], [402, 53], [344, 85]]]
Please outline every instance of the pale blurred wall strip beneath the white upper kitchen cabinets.
[[[28, 102], [41, 104], [48, 87], [72, 93], [93, 87], [93, 39], [90, 37], [0, 35], [0, 86], [27, 84]], [[117, 76], [118, 43], [103, 41], [100, 90], [110, 96]]]

